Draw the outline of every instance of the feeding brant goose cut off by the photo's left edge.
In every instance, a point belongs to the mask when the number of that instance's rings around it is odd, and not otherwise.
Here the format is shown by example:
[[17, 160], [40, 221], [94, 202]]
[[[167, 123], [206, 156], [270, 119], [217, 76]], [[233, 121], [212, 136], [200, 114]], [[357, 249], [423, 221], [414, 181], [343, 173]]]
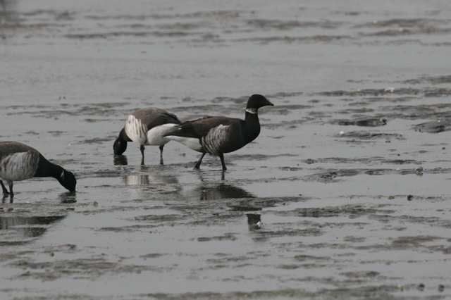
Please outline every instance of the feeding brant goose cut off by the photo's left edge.
[[[77, 185], [73, 173], [47, 161], [36, 149], [19, 142], [0, 142], [0, 185], [4, 196], [14, 196], [14, 181], [31, 177], [54, 177], [70, 192]], [[2, 180], [8, 183], [9, 192]]]

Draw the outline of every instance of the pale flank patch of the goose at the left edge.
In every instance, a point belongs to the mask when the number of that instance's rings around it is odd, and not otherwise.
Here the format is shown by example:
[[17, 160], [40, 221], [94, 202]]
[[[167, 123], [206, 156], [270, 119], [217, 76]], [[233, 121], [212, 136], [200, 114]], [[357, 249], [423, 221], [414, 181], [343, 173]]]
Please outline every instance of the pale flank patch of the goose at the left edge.
[[0, 160], [0, 178], [10, 181], [25, 180], [35, 176], [39, 154], [34, 151], [18, 152]]

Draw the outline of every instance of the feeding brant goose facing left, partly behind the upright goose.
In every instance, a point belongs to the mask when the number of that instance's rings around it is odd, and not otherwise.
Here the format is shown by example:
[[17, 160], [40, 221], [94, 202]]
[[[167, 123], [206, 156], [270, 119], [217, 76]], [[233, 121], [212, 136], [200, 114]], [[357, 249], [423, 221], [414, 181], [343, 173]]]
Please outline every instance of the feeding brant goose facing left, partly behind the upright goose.
[[144, 165], [144, 145], [160, 146], [160, 165], [163, 165], [163, 147], [170, 140], [164, 134], [180, 124], [176, 115], [160, 108], [139, 109], [128, 115], [125, 125], [114, 141], [115, 155], [127, 149], [127, 142], [140, 144], [141, 164]]

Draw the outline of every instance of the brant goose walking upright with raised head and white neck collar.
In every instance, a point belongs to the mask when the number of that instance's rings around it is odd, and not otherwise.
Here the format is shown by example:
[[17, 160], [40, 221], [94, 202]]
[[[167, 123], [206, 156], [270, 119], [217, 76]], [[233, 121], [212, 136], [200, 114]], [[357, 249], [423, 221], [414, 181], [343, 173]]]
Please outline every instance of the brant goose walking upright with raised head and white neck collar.
[[202, 158], [208, 153], [219, 156], [223, 170], [227, 170], [223, 154], [236, 151], [259, 136], [257, 112], [262, 106], [273, 104], [264, 96], [254, 94], [247, 100], [245, 120], [227, 117], [200, 118], [175, 126], [166, 133], [166, 137], [202, 152], [199, 161], [194, 165], [195, 169], [199, 169]]

